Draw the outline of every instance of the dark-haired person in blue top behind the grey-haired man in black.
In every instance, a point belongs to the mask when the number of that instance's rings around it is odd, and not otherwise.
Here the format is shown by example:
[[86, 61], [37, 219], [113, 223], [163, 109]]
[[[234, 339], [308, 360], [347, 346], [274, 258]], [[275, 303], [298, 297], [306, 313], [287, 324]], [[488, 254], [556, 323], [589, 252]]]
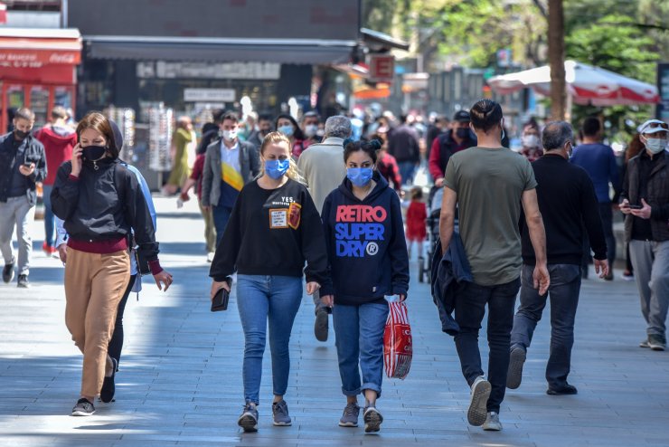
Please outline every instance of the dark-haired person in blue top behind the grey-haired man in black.
[[[580, 166], [588, 172], [599, 201], [599, 215], [604, 225], [604, 235], [607, 238], [607, 258], [609, 271], [604, 278], [613, 281], [613, 266], [616, 262], [616, 236], [613, 234], [613, 204], [609, 193], [609, 184], [615, 193], [620, 191], [620, 172], [617, 167], [616, 155], [610, 146], [602, 144], [602, 125], [597, 117], [588, 117], [581, 126], [582, 143], [574, 148], [571, 163]], [[588, 264], [590, 261], [589, 242], [583, 240], [583, 262], [581, 265], [582, 277], [588, 278]]]

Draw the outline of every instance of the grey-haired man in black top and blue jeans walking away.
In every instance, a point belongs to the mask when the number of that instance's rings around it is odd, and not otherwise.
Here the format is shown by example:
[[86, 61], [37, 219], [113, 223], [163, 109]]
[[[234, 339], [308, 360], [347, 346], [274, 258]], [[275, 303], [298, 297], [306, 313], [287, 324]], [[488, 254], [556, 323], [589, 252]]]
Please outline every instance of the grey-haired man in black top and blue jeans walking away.
[[569, 123], [549, 123], [542, 137], [545, 155], [532, 163], [539, 184], [537, 198], [546, 229], [546, 255], [551, 285], [544, 295], [532, 287], [532, 271], [536, 260], [530, 234], [522, 224], [521, 306], [514, 317], [511, 361], [506, 376], [506, 386], [511, 389], [521, 385], [526, 351], [530, 347], [534, 328], [542, 319], [542, 311], [550, 294], [551, 354], [546, 366], [547, 393], [577, 393], [576, 387], [567, 383], [567, 376], [570, 373], [574, 319], [579, 304], [582, 223], [585, 223], [590, 246], [595, 252], [595, 271], [600, 278], [608, 274], [607, 243], [598, 213], [595, 187], [583, 168], [568, 161], [573, 138]]

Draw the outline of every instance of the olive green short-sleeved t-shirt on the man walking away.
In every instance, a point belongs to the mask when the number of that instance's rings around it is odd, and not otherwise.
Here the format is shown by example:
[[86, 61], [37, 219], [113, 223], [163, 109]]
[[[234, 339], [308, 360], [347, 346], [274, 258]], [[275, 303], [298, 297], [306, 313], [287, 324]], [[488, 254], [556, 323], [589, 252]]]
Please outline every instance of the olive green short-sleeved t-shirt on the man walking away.
[[457, 194], [474, 282], [495, 286], [517, 279], [523, 264], [521, 199], [537, 185], [527, 158], [505, 147], [470, 147], [450, 157], [444, 185]]

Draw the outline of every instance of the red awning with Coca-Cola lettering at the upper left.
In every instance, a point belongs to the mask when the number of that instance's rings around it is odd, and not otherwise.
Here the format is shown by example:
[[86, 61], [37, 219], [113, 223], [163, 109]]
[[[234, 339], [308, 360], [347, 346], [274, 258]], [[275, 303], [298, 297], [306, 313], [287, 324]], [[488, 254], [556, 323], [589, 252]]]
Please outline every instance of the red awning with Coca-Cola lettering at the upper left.
[[0, 80], [71, 84], [80, 62], [79, 30], [0, 28]]

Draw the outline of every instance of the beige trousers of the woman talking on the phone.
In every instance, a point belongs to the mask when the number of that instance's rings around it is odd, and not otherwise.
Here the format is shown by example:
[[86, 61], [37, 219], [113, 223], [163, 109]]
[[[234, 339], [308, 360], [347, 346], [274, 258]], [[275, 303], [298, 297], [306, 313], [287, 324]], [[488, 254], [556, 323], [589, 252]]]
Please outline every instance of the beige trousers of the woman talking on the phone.
[[118, 302], [130, 281], [127, 251], [79, 252], [68, 247], [65, 264], [65, 324], [84, 356], [81, 395], [99, 395]]

